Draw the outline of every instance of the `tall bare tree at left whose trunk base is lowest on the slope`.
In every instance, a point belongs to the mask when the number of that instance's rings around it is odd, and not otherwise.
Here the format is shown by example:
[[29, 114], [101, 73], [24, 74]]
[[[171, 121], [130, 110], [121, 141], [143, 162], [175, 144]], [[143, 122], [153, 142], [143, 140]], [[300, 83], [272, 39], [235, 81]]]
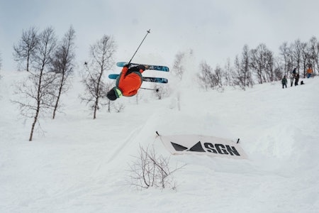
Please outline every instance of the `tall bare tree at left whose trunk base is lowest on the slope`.
[[40, 113], [52, 109], [53, 106], [55, 75], [48, 72], [56, 46], [53, 28], [46, 28], [38, 39], [33, 60], [34, 72], [30, 71], [28, 78], [30, 82], [23, 82], [22, 86], [18, 87], [17, 93], [26, 99], [15, 101], [21, 108], [21, 114], [33, 118], [29, 141], [33, 139]]

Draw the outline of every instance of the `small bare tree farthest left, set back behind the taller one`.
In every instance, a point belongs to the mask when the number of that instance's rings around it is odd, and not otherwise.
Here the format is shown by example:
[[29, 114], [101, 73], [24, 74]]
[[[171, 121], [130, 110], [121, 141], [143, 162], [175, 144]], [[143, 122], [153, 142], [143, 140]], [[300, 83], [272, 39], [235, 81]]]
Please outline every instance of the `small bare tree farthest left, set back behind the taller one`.
[[39, 43], [38, 30], [30, 27], [28, 31], [23, 31], [21, 40], [17, 45], [13, 45], [13, 58], [19, 63], [26, 62], [26, 71], [30, 70], [30, 63]]

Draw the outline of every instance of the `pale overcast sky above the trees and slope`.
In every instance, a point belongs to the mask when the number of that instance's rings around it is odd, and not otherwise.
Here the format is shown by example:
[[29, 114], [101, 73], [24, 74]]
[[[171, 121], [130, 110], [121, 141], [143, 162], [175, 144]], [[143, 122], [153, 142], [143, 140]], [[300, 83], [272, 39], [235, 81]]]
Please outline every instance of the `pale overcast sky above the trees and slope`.
[[116, 41], [116, 60], [130, 60], [151, 29], [135, 61], [172, 65], [191, 48], [215, 67], [245, 44], [265, 43], [278, 53], [285, 41], [319, 38], [318, 9], [318, 0], [0, 0], [1, 70], [16, 69], [13, 44], [30, 26], [52, 26], [59, 38], [73, 26], [79, 64], [103, 35]]

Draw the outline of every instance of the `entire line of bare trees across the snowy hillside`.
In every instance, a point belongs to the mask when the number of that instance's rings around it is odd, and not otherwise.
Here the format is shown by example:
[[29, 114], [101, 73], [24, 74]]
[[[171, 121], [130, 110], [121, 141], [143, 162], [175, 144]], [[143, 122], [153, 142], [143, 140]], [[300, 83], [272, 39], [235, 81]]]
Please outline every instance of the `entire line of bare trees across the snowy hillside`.
[[[39, 31], [30, 27], [23, 31], [21, 39], [13, 45], [13, 57], [21, 70], [28, 72], [28, 79], [18, 84], [17, 98], [13, 102], [18, 104], [21, 114], [32, 119], [29, 141], [32, 141], [35, 125], [38, 124], [42, 114], [51, 114], [55, 119], [56, 112], [61, 106], [62, 94], [65, 94], [72, 86], [72, 75], [76, 67], [75, 59], [75, 31], [69, 27], [62, 38], [57, 38], [52, 27]], [[124, 106], [121, 102], [110, 102], [106, 98], [106, 92], [113, 87], [113, 82], [107, 81], [107, 70], [115, 64], [113, 59], [116, 52], [116, 43], [109, 35], [103, 35], [100, 40], [92, 44], [89, 49], [89, 58], [83, 65], [85, 75], [82, 83], [84, 92], [80, 99], [89, 105], [93, 119], [101, 107], [107, 106], [107, 110], [121, 111]], [[284, 75], [289, 75], [293, 68], [306, 76], [309, 66], [313, 67], [313, 74], [318, 75], [319, 44], [313, 37], [308, 43], [296, 40], [294, 43], [283, 43], [279, 47], [279, 55], [260, 44], [250, 49], [244, 45], [242, 53], [237, 55], [233, 62], [228, 62], [222, 67], [215, 68], [207, 62], [201, 62], [197, 74], [198, 84], [204, 89], [220, 89], [225, 86], [240, 87], [245, 89], [254, 84], [281, 80]], [[189, 53], [177, 53], [172, 73], [180, 80], [186, 70], [187, 55]], [[1, 58], [0, 58], [1, 67]], [[155, 85], [155, 97], [162, 99], [170, 95], [169, 87]], [[138, 102], [139, 96], [136, 95]]]

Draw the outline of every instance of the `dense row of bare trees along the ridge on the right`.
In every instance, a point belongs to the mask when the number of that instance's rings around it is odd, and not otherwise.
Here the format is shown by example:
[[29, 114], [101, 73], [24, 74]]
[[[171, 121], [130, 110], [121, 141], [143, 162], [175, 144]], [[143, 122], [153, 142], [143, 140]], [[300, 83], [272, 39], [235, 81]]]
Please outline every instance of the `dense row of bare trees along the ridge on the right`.
[[[180, 78], [184, 72], [181, 64], [185, 55], [178, 53], [174, 60], [174, 72]], [[290, 76], [294, 68], [301, 77], [306, 77], [308, 67], [312, 67], [313, 75], [318, 75], [318, 55], [319, 43], [315, 37], [308, 42], [285, 42], [279, 47], [279, 55], [274, 55], [264, 43], [252, 49], [244, 45], [242, 53], [233, 62], [228, 59], [223, 67], [217, 65], [213, 68], [207, 62], [201, 62], [198, 80], [205, 89], [223, 89], [224, 86], [245, 89], [254, 84], [281, 80], [284, 75]]]

